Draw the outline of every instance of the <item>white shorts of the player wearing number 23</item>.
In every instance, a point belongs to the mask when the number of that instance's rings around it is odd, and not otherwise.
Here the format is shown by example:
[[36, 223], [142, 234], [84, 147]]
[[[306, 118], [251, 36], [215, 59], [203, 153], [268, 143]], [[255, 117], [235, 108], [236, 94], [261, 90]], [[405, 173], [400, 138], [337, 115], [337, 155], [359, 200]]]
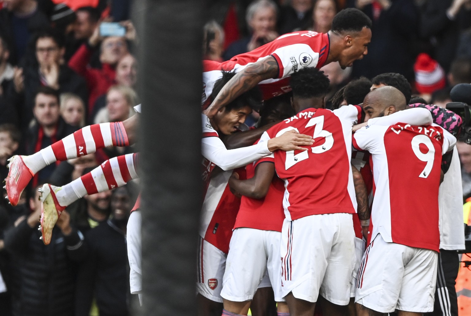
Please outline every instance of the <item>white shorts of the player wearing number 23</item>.
[[282, 295], [316, 302], [318, 295], [348, 305], [355, 261], [352, 214], [285, 220], [281, 237]]

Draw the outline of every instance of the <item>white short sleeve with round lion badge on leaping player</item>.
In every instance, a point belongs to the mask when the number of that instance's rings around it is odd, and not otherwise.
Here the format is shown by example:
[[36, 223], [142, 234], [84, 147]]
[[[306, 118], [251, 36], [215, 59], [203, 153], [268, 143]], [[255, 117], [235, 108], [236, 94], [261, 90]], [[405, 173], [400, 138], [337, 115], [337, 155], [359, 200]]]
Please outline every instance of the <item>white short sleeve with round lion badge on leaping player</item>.
[[304, 67], [316, 67], [319, 53], [316, 53], [308, 44], [292, 44], [276, 48], [270, 54], [275, 57], [280, 68], [278, 78], [291, 76], [295, 71]]

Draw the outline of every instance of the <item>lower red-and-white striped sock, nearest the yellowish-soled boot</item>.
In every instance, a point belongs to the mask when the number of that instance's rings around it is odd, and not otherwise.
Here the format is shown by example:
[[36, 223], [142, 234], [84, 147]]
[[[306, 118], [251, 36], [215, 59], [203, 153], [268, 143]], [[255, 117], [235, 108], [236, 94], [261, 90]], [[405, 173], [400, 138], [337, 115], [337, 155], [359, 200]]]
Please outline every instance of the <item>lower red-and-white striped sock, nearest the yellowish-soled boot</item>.
[[87, 194], [121, 187], [130, 180], [138, 178], [137, 163], [138, 154], [127, 154], [106, 160], [88, 174], [60, 188], [54, 188], [57, 202], [67, 206]]

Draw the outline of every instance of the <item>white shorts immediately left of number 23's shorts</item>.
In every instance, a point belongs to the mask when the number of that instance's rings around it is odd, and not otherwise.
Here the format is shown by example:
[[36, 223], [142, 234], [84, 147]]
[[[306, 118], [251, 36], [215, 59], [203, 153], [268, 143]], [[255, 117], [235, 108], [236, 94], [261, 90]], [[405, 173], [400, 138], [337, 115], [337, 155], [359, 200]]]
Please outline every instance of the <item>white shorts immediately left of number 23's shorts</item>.
[[[252, 300], [268, 272], [277, 302], [281, 296], [281, 260], [279, 231], [253, 228], [234, 230], [227, 254], [221, 296], [226, 300]], [[266, 278], [265, 278], [266, 280]]]

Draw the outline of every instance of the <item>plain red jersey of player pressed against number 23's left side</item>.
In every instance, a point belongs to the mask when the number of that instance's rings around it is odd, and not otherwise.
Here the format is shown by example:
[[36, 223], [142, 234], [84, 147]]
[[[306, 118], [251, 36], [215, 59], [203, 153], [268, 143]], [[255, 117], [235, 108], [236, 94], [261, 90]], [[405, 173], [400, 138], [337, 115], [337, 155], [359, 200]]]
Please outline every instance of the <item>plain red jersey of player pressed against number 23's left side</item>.
[[[245, 167], [247, 179], [255, 174], [255, 168], [260, 163], [274, 163], [273, 158], [262, 158]], [[247, 227], [260, 230], [275, 230], [281, 232], [284, 221], [283, 209], [284, 182], [274, 176], [265, 198], [242, 197], [239, 213], [235, 220], [234, 229]]]

